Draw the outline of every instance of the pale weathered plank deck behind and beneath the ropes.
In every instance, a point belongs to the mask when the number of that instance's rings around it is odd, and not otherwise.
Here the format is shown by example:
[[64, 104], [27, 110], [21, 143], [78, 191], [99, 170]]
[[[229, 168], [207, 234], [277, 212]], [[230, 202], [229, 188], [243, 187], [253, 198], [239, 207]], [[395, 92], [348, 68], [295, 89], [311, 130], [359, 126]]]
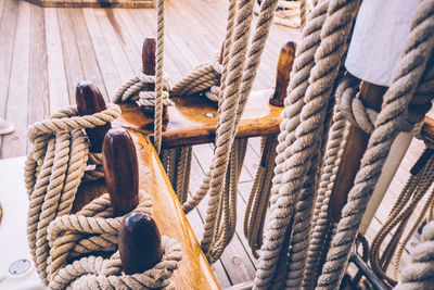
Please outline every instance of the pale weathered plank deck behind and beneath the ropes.
[[[168, 0], [165, 71], [171, 83], [221, 46], [226, 25], [225, 0]], [[56, 110], [75, 103], [79, 80], [94, 83], [106, 101], [140, 66], [144, 37], [155, 36], [152, 9], [43, 9], [23, 0], [0, 0], [0, 116], [15, 133], [0, 137], [0, 159], [25, 155], [26, 128]], [[275, 85], [280, 47], [299, 39], [299, 33], [275, 25], [264, 52], [254, 89]], [[413, 141], [367, 237], [372, 239], [405, 184], [423, 143]], [[237, 235], [213, 269], [222, 288], [252, 280], [256, 261], [242, 230], [245, 203], [258, 166], [259, 139], [250, 140], [239, 187]], [[191, 180], [202, 180], [212, 160], [210, 144], [194, 147]], [[5, 174], [5, 173], [1, 173]], [[199, 188], [191, 182], [191, 191]], [[189, 214], [202, 236], [206, 200]], [[416, 237], [411, 243], [417, 242]]]

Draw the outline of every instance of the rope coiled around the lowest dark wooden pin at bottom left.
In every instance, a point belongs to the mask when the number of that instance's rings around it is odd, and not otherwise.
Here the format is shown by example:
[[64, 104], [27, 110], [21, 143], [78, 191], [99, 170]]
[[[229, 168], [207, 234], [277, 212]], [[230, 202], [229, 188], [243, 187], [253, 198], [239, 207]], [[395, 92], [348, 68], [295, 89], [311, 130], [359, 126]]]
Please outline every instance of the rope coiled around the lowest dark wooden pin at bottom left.
[[[140, 192], [135, 211], [152, 215], [151, 197]], [[141, 274], [122, 273], [119, 252], [110, 259], [86, 256], [66, 264], [71, 257], [88, 254], [117, 244], [123, 216], [112, 218], [113, 210], [108, 194], [101, 196], [75, 215], [63, 215], [51, 222], [49, 241], [50, 288], [63, 289], [175, 289], [170, 281], [173, 273], [182, 259], [180, 245], [165, 236], [163, 260]]]

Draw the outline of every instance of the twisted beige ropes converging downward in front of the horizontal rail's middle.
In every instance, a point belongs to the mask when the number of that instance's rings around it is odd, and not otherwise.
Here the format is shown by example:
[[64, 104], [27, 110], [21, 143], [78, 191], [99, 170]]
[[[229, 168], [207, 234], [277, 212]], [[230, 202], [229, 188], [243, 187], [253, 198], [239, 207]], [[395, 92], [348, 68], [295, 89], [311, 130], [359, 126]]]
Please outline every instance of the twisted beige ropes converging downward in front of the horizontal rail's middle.
[[[243, 109], [244, 109], [244, 94], [248, 94], [252, 88], [252, 83], [254, 80], [254, 76], [257, 70], [257, 65], [260, 60], [260, 54], [265, 45], [265, 40], [267, 39], [270, 21], [272, 21], [272, 15], [276, 7], [276, 1], [265, 1], [261, 7], [261, 14], [259, 15], [257, 22], [256, 33], [253, 38], [252, 47], [248, 48], [250, 59], [247, 61], [246, 68], [244, 68], [245, 55], [247, 53], [247, 46], [245, 45], [248, 39], [248, 31], [251, 27], [252, 13], [253, 13], [253, 2], [252, 1], [240, 1], [238, 4], [238, 14], [237, 14], [237, 25], [233, 31], [233, 43], [231, 45], [231, 49], [228, 50], [225, 48], [225, 59], [224, 59], [224, 74], [221, 77], [221, 86], [220, 93], [222, 98], [219, 98], [219, 116], [218, 116], [218, 127], [216, 131], [216, 150], [215, 150], [215, 160], [213, 162], [213, 172], [210, 173], [210, 189], [209, 193], [209, 203], [207, 210], [207, 216], [205, 220], [205, 230], [202, 240], [202, 245], [204, 251], [207, 253], [207, 257], [209, 261], [214, 262], [219, 257], [221, 250], [217, 248], [215, 254], [213, 254], [210, 249], [212, 244], [217, 243], [220, 239], [216, 237], [215, 231], [216, 223], [215, 218], [217, 217], [218, 204], [221, 199], [221, 186], [226, 175], [226, 169], [228, 165], [229, 159], [229, 150], [231, 148], [231, 143], [233, 142], [234, 135], [237, 133], [237, 127], [239, 119], [241, 117]], [[231, 5], [230, 5], [231, 7]], [[271, 10], [272, 9], [272, 10]], [[271, 11], [271, 12], [270, 12]], [[232, 12], [233, 13], [233, 12]], [[228, 13], [231, 15], [231, 12]], [[271, 15], [271, 17], [266, 17]], [[228, 22], [230, 23], [230, 21]], [[229, 24], [228, 24], [229, 25]], [[232, 31], [227, 31], [227, 39], [225, 40], [225, 46], [227, 45], [228, 35], [231, 36]], [[230, 51], [230, 61], [229, 54], [226, 54], [227, 51]], [[228, 66], [225, 64], [228, 63]], [[226, 70], [228, 67], [228, 70]], [[227, 77], [226, 77], [227, 75]], [[243, 78], [240, 78], [240, 75], [243, 75]], [[242, 86], [241, 83], [245, 84]], [[227, 85], [226, 85], [227, 84]], [[240, 85], [242, 91], [240, 92]], [[241, 97], [239, 97], [241, 96]], [[240, 99], [240, 101], [238, 101]], [[237, 108], [238, 106], [238, 108]], [[235, 111], [237, 110], [237, 111]], [[241, 111], [241, 112], [240, 112]], [[233, 117], [237, 112], [237, 118]], [[225, 223], [224, 223], [225, 224]], [[229, 237], [229, 235], [226, 235]], [[224, 243], [227, 243], [225, 241]], [[208, 254], [208, 250], [210, 249], [210, 254]]]

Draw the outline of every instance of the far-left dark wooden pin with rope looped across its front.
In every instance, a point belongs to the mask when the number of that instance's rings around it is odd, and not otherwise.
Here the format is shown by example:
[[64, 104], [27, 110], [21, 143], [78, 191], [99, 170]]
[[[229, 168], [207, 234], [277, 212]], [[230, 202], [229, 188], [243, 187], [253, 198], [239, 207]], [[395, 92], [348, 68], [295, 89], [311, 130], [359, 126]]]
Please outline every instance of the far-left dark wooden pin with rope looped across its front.
[[[100, 90], [92, 83], [82, 80], [75, 90], [78, 114], [80, 116], [91, 115], [106, 109]], [[86, 129], [90, 141], [90, 152], [101, 153], [104, 136], [112, 128], [111, 124]]]

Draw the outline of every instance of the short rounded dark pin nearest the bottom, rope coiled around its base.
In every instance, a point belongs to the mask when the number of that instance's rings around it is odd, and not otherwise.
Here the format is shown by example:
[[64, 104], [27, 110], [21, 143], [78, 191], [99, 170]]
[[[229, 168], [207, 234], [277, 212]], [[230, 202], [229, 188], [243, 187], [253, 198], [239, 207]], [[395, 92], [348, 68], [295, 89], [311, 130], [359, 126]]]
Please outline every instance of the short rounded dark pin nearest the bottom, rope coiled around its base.
[[159, 230], [143, 212], [132, 212], [123, 218], [118, 247], [123, 270], [129, 275], [143, 273], [163, 259]]

